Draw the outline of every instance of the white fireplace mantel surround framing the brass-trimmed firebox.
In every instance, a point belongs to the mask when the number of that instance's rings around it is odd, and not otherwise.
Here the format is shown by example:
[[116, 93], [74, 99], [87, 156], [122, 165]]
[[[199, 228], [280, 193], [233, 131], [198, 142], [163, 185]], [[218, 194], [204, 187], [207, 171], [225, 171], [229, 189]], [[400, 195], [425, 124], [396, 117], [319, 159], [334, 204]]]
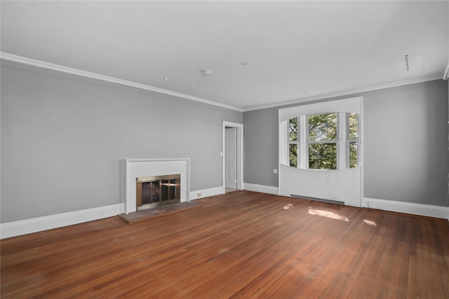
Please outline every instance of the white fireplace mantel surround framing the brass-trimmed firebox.
[[189, 201], [190, 159], [125, 159], [123, 160], [123, 195], [125, 213], [136, 211], [135, 179], [139, 176], [181, 175], [181, 202]]

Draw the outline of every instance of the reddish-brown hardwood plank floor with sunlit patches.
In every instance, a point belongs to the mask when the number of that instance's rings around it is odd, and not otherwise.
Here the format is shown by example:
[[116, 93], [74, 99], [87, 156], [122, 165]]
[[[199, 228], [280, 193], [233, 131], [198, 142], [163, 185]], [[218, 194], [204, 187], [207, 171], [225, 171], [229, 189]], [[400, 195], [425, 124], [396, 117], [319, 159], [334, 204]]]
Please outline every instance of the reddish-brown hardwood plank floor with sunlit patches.
[[234, 191], [1, 241], [1, 298], [449, 298], [447, 220]]

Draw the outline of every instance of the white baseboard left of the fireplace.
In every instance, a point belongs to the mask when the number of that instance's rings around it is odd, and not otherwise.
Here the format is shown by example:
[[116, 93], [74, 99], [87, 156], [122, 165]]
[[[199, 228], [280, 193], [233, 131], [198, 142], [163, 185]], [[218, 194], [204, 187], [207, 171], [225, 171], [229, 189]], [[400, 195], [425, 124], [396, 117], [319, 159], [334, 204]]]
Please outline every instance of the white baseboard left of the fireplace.
[[112, 204], [105, 207], [1, 223], [0, 239], [112, 217], [122, 214], [123, 211], [123, 204]]

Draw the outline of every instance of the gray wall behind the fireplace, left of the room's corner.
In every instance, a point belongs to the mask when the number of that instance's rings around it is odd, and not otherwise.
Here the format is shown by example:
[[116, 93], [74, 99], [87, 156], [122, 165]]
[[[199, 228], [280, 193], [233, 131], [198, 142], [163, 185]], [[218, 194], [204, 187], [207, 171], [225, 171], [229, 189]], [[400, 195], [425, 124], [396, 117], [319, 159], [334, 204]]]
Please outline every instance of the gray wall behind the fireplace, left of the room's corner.
[[191, 158], [222, 186], [222, 121], [243, 113], [20, 64], [1, 67], [1, 223], [120, 199], [124, 158]]

